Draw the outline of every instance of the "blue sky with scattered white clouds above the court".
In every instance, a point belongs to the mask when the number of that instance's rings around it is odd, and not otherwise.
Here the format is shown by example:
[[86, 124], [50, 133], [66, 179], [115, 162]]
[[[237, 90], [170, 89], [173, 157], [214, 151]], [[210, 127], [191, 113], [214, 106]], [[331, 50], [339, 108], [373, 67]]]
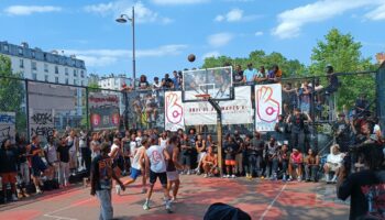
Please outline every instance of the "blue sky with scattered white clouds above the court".
[[[317, 41], [332, 28], [351, 33], [362, 55], [385, 51], [385, 0], [1, 0], [0, 41], [64, 51], [88, 74], [132, 75], [135, 8], [136, 76], [199, 67], [205, 57], [279, 52], [310, 64]], [[194, 63], [187, 61], [195, 54]], [[260, 64], [256, 64], [260, 65]]]

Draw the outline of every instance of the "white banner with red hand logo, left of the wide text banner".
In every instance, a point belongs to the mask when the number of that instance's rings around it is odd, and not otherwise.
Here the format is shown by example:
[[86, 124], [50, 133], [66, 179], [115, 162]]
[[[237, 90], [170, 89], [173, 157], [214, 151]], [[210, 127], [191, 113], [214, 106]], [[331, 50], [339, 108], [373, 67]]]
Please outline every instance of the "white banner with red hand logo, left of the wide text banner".
[[165, 130], [185, 130], [184, 108], [180, 91], [166, 91], [164, 96]]

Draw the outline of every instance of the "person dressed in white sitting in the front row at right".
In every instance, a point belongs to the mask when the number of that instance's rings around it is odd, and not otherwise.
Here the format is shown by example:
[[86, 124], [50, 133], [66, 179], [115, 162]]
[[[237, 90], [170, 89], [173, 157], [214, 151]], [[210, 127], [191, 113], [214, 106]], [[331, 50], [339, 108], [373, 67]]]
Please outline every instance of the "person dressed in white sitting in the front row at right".
[[[337, 177], [339, 175], [340, 168], [342, 166], [343, 157], [345, 154], [340, 152], [340, 146], [338, 144], [330, 147], [330, 154], [327, 157], [327, 163], [323, 166], [324, 175], [327, 177], [327, 183], [337, 183]], [[334, 172], [333, 178], [330, 180], [330, 172]]]

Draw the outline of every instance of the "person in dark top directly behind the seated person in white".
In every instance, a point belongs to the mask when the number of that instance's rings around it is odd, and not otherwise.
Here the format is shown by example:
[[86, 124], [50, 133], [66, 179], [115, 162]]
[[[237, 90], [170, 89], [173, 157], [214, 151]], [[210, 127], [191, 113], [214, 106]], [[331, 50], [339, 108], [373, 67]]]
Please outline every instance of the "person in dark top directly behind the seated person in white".
[[351, 140], [351, 129], [344, 113], [341, 112], [338, 114], [338, 120], [333, 124], [333, 132], [336, 143], [340, 145], [341, 152], [348, 152]]

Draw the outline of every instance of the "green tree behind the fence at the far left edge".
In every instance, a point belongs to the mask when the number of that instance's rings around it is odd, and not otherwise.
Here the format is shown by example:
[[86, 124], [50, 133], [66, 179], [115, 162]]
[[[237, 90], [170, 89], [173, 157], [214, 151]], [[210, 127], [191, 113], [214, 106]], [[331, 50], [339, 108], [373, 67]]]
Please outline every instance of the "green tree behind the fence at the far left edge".
[[26, 132], [26, 112], [22, 109], [24, 96], [21, 73], [12, 73], [11, 59], [0, 55], [0, 111], [15, 112], [18, 132]]

